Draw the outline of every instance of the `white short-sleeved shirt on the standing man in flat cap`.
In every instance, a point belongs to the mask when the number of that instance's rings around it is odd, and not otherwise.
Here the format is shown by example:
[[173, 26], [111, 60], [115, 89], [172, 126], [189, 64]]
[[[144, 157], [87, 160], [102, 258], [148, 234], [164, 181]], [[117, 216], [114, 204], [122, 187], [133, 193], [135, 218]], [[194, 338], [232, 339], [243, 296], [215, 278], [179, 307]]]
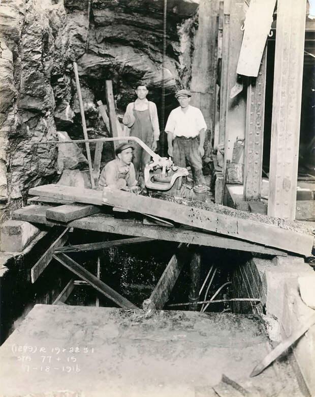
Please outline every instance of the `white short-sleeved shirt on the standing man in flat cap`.
[[183, 112], [180, 106], [170, 112], [165, 131], [171, 132], [174, 136], [194, 138], [204, 128], [207, 129], [207, 124], [201, 110], [188, 105], [186, 112]]

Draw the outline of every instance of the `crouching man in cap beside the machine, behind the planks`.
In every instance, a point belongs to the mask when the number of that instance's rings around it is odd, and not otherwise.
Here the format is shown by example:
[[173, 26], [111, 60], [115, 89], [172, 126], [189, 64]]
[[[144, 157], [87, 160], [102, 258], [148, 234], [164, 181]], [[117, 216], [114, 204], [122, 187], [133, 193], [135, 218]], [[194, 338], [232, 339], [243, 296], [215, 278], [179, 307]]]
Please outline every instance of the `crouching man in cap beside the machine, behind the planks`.
[[134, 147], [124, 143], [115, 150], [117, 158], [109, 161], [102, 169], [99, 179], [99, 189], [111, 187], [119, 190], [139, 193], [136, 186], [135, 167], [132, 163]]

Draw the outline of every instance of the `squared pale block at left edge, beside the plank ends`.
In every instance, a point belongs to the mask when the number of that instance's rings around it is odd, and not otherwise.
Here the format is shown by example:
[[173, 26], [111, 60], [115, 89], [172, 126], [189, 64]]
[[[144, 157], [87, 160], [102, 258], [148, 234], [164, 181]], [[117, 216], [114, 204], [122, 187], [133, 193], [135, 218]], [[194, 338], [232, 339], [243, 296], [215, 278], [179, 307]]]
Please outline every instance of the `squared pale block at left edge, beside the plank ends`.
[[1, 226], [0, 249], [7, 252], [21, 252], [40, 230], [29, 222], [7, 220]]

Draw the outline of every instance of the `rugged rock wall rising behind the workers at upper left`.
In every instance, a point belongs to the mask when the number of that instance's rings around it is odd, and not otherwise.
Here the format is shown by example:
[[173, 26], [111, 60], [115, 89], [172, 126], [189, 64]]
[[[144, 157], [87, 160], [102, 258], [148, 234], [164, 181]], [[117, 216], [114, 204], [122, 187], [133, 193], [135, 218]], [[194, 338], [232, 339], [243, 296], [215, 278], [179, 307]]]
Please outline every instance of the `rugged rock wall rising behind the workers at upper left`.
[[159, 109], [164, 81], [166, 116], [176, 105], [175, 90], [189, 87], [192, 78], [199, 0], [168, 1], [164, 65], [163, 3], [2, 0], [0, 222], [25, 202], [29, 187], [58, 179], [57, 147], [36, 143], [57, 139], [57, 131], [83, 136], [73, 61], [91, 138], [108, 134], [96, 103], [106, 103], [106, 79], [113, 81], [120, 116], [139, 80], [148, 83], [148, 98]]

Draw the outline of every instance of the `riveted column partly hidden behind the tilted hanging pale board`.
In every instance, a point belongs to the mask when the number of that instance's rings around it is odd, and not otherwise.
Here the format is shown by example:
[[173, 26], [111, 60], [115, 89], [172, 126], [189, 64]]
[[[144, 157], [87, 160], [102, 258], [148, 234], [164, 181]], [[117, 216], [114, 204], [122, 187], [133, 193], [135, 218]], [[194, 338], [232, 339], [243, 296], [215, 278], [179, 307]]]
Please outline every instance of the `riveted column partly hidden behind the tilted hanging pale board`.
[[244, 199], [259, 200], [262, 184], [265, 88], [267, 45], [263, 53], [257, 78], [249, 78], [247, 86]]

